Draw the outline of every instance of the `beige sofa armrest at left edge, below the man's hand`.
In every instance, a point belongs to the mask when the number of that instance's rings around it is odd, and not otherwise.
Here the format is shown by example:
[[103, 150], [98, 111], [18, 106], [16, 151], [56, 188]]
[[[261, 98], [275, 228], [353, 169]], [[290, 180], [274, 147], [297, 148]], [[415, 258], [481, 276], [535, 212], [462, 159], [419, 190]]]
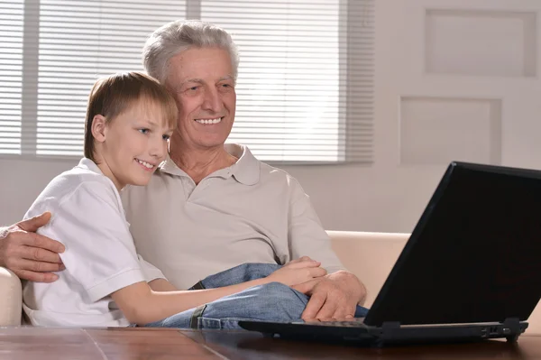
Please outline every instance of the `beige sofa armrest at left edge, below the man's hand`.
[[13, 272], [0, 267], [0, 327], [21, 325], [23, 288]]

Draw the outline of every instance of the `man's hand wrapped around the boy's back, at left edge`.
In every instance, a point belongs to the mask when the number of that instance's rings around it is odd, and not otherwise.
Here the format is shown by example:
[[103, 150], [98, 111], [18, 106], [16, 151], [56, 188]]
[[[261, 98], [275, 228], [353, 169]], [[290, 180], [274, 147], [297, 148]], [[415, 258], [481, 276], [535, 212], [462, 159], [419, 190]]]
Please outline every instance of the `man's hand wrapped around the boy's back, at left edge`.
[[50, 212], [32, 217], [7, 228], [0, 237], [0, 266], [5, 266], [19, 278], [32, 282], [54, 282], [65, 267], [59, 253], [64, 245], [35, 232], [50, 221]]

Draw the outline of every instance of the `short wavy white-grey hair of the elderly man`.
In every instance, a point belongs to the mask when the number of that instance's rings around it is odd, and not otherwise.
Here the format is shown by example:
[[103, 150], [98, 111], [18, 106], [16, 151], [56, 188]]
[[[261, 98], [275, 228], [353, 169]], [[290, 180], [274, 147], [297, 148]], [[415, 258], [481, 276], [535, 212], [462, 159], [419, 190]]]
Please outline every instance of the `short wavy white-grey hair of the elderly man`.
[[215, 24], [197, 20], [166, 23], [152, 32], [142, 49], [144, 69], [152, 78], [165, 84], [170, 59], [194, 47], [218, 47], [226, 50], [231, 58], [232, 75], [236, 81], [239, 54], [231, 35]]

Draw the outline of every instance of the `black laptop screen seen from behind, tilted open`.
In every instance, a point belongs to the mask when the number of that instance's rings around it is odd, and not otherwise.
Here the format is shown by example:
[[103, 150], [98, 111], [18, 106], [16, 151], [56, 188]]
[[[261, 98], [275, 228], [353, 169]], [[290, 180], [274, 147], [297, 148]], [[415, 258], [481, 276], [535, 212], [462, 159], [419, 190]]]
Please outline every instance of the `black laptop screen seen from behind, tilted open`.
[[452, 163], [365, 323], [526, 319], [541, 297], [541, 171]]

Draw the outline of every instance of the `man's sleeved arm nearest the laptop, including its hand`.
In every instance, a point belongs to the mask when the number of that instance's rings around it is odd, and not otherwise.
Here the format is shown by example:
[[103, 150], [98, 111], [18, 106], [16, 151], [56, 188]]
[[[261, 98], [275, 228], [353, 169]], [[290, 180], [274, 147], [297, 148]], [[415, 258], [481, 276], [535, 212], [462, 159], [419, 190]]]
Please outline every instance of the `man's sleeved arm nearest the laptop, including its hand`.
[[302, 318], [348, 318], [366, 299], [366, 288], [344, 266], [331, 248], [331, 240], [321, 226], [304, 190], [293, 181], [289, 211], [289, 246], [292, 258], [308, 255], [321, 261], [326, 277], [293, 288], [310, 296]]

